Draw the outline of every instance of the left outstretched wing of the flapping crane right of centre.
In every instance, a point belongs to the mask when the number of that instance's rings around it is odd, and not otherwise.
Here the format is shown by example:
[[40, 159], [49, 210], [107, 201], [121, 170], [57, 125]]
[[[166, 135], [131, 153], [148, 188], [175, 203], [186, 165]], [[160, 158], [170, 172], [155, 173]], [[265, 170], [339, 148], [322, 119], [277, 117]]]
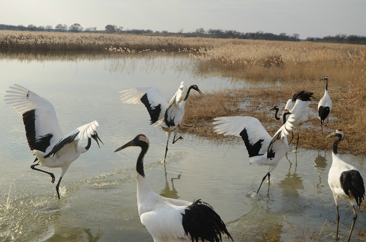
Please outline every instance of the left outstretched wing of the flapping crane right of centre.
[[218, 117], [214, 120], [216, 121], [213, 124], [217, 124], [214, 126], [215, 132], [242, 137], [249, 157], [267, 152], [272, 137], [257, 118], [234, 116]]

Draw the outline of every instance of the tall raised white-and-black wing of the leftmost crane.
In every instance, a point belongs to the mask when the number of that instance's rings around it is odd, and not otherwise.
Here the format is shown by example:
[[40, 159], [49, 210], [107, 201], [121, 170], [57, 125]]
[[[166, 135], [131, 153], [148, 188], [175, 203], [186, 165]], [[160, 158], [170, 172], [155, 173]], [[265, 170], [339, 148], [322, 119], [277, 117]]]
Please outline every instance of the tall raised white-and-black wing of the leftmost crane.
[[9, 88], [11, 90], [6, 91], [5, 101], [23, 116], [31, 150], [45, 152], [47, 147], [64, 137], [55, 108], [49, 101], [17, 84]]

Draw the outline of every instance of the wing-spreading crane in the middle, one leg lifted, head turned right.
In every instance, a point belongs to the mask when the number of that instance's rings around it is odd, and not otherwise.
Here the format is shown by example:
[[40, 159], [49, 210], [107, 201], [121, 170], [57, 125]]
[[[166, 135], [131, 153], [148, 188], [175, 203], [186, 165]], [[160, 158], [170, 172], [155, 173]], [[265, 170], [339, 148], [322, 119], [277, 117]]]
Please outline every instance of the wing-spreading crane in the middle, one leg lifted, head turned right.
[[177, 140], [183, 139], [179, 136], [175, 139], [178, 133], [178, 128], [182, 123], [184, 116], [184, 106], [186, 105], [187, 98], [191, 89], [196, 90], [202, 95], [202, 92], [198, 89], [197, 85], [191, 85], [187, 94], [182, 102], [179, 99], [183, 94], [183, 82], [180, 83], [178, 91], [174, 94], [173, 98], [169, 103], [165, 101], [163, 95], [156, 87], [145, 86], [145, 87], [135, 87], [128, 90], [119, 91], [119, 100], [122, 103], [143, 103], [150, 114], [150, 124], [157, 122], [161, 129], [167, 132], [167, 147], [165, 148], [164, 162], [167, 158], [168, 143], [172, 132], [174, 132], [173, 142], [174, 144]]

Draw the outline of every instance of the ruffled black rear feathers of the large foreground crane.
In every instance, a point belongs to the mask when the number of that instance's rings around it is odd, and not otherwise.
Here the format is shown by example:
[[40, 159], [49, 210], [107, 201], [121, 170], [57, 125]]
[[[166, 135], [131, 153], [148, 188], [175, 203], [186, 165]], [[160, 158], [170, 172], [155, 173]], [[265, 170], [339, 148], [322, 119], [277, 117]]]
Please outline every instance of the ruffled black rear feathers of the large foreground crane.
[[194, 201], [184, 212], [185, 214], [182, 213], [184, 232], [186, 235], [189, 233], [193, 242], [198, 242], [198, 238], [202, 241], [220, 242], [221, 233], [227, 234], [233, 240], [220, 216], [201, 199]]

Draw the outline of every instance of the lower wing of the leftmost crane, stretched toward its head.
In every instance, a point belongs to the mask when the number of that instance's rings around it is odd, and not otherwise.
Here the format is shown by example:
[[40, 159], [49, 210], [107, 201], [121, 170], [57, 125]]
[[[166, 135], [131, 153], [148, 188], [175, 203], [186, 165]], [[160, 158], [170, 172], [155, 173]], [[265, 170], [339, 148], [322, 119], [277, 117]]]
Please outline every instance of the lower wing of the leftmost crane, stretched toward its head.
[[74, 141], [79, 141], [83, 139], [90, 139], [91, 135], [94, 135], [94, 131], [97, 131], [97, 127], [99, 126], [97, 121], [93, 121], [89, 124], [85, 124], [80, 126], [79, 128], [74, 129], [70, 133], [68, 133], [63, 139], [61, 139], [49, 152], [45, 158], [48, 156], [52, 156], [57, 151], [62, 150], [63, 148], [67, 148], [67, 144], [71, 144]]

